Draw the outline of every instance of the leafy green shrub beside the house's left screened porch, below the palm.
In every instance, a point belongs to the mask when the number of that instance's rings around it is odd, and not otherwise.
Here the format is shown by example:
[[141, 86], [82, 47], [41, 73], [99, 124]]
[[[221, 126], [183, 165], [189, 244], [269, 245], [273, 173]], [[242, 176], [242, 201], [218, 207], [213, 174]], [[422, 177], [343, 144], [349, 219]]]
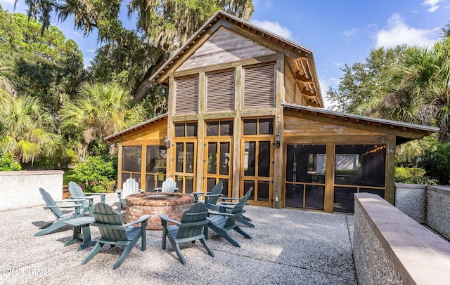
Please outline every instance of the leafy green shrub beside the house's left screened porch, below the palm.
[[85, 162], [75, 166], [74, 176], [86, 183], [86, 190], [89, 192], [111, 192], [116, 183], [115, 160], [117, 159], [114, 157], [91, 156]]

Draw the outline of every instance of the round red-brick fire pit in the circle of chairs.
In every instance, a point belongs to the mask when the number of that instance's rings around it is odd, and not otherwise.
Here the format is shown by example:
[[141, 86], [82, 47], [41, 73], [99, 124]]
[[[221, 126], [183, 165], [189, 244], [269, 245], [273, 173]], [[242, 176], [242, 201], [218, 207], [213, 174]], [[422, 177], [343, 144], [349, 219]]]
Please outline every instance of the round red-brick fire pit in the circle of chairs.
[[191, 207], [194, 197], [182, 193], [145, 192], [127, 196], [125, 222], [138, 220], [143, 215], [150, 215], [147, 230], [162, 230], [158, 215], [167, 215], [174, 220], [181, 220], [184, 211]]

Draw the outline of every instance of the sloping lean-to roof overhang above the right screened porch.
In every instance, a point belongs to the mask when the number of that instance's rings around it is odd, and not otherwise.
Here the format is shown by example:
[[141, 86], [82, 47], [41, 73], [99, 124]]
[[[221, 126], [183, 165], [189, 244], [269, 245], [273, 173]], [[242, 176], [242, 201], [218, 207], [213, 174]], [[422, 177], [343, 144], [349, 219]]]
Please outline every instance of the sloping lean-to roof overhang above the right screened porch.
[[417, 138], [423, 138], [439, 131], [439, 128], [432, 126], [409, 124], [401, 121], [378, 119], [287, 103], [283, 103], [282, 105], [284, 110], [293, 110], [307, 114], [311, 116], [311, 119], [314, 119], [314, 117], [326, 117], [339, 121], [339, 124], [346, 124], [347, 122], [347, 124], [352, 124], [356, 128], [368, 129], [369, 126], [371, 128], [379, 128], [380, 133], [396, 135], [396, 145], [401, 145], [402, 143], [407, 143]]

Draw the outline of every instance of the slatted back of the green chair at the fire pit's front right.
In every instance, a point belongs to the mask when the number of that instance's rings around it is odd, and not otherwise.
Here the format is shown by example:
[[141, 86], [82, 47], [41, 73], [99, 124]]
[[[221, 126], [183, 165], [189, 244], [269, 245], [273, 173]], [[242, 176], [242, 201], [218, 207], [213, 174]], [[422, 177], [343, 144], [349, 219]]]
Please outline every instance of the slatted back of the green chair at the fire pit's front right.
[[206, 218], [208, 211], [204, 203], [195, 203], [181, 217], [181, 224], [176, 234], [176, 239], [195, 237], [203, 232], [203, 227], [208, 223]]

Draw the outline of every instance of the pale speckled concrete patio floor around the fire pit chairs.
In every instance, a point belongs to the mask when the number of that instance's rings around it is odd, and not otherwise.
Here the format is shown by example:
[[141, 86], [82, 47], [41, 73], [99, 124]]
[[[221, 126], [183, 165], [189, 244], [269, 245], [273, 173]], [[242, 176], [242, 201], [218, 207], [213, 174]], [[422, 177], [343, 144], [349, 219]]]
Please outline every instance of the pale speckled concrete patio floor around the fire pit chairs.
[[[96, 198], [97, 199], [97, 198]], [[117, 195], [108, 194], [117, 208]], [[81, 261], [92, 247], [63, 246], [72, 227], [33, 237], [54, 220], [43, 207], [0, 213], [0, 284], [356, 284], [352, 256], [354, 216], [293, 209], [247, 206], [256, 227], [242, 226], [237, 248], [210, 230], [211, 257], [200, 242], [181, 246], [182, 265], [169, 241], [161, 249], [162, 231], [147, 231], [124, 263], [113, 270], [122, 247], [103, 249], [89, 263]], [[124, 210], [122, 210], [124, 213]], [[93, 239], [99, 237], [91, 227]]]

